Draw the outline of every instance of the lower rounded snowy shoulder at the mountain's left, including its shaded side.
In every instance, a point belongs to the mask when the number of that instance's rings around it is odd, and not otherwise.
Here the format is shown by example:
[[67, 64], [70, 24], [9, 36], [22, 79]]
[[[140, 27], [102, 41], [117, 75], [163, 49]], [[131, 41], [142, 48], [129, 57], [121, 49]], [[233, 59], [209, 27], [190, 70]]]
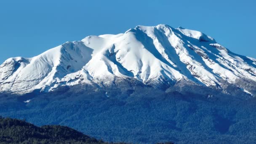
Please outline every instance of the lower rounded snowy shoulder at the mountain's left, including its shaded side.
[[10, 58], [0, 66], [0, 91], [24, 92], [51, 85], [91, 59], [81, 42], [64, 43], [33, 58]]

